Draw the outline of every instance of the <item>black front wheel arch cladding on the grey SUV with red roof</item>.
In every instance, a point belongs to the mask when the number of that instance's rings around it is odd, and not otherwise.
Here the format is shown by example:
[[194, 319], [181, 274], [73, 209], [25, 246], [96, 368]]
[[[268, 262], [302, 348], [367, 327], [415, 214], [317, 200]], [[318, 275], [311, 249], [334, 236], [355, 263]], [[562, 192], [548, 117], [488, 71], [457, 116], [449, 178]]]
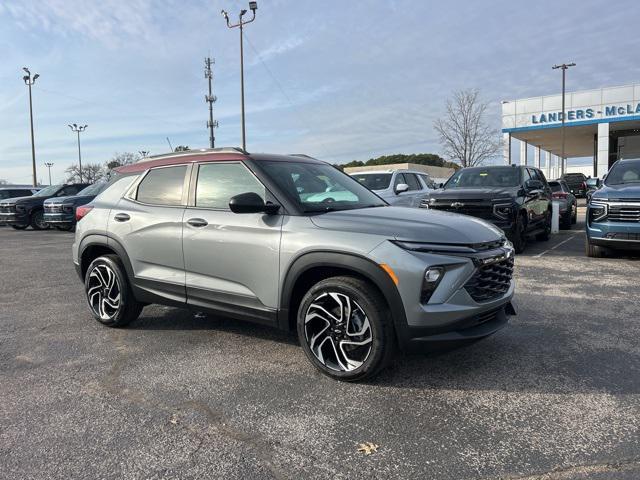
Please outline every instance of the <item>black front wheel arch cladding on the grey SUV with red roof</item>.
[[[295, 330], [297, 310], [304, 294], [318, 281], [337, 275], [352, 275], [370, 282], [385, 299], [394, 325], [406, 325], [400, 293], [379, 265], [356, 254], [314, 251], [297, 257], [287, 270], [280, 295], [278, 326], [283, 330]], [[396, 332], [402, 330], [396, 328]]]

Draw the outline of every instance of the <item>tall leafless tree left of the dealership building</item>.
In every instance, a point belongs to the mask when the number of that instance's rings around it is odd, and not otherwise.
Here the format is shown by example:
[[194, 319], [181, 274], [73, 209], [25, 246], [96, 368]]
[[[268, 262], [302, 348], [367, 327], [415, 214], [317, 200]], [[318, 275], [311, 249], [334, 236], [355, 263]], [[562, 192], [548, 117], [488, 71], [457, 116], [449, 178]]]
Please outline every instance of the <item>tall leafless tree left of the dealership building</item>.
[[447, 113], [433, 127], [438, 132], [444, 156], [463, 167], [482, 165], [501, 149], [498, 130], [485, 119], [487, 103], [477, 89], [460, 90], [447, 100]]

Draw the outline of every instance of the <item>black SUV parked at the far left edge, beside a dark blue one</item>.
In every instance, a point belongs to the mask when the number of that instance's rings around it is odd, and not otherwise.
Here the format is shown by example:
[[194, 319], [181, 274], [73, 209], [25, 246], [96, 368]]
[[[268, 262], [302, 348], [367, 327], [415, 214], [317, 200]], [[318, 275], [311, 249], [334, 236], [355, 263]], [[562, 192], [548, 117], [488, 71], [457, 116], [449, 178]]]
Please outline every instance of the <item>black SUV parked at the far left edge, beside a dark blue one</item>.
[[10, 198], [0, 201], [0, 222], [8, 223], [16, 230], [31, 226], [34, 230], [49, 228], [44, 221], [43, 204], [47, 198], [76, 195], [88, 187], [88, 183], [50, 185], [30, 197]]

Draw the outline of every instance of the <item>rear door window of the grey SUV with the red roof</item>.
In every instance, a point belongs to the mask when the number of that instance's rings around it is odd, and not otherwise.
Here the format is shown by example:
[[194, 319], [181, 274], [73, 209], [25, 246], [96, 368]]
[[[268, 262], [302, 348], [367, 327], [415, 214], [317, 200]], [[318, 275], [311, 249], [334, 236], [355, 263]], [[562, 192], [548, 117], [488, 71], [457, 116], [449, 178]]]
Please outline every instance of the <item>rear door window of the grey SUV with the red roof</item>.
[[150, 170], [138, 186], [136, 199], [153, 205], [180, 205], [186, 166]]

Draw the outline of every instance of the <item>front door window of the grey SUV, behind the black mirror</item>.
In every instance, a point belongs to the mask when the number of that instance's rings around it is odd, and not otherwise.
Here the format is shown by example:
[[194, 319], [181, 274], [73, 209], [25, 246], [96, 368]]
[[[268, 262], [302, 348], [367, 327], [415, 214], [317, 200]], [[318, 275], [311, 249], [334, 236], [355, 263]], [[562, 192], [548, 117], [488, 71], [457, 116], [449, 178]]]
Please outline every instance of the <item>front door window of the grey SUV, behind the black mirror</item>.
[[[306, 188], [309, 188], [305, 185]], [[265, 199], [264, 186], [240, 163], [200, 165], [196, 187], [196, 206], [228, 209], [229, 200], [241, 193], [254, 192]]]

